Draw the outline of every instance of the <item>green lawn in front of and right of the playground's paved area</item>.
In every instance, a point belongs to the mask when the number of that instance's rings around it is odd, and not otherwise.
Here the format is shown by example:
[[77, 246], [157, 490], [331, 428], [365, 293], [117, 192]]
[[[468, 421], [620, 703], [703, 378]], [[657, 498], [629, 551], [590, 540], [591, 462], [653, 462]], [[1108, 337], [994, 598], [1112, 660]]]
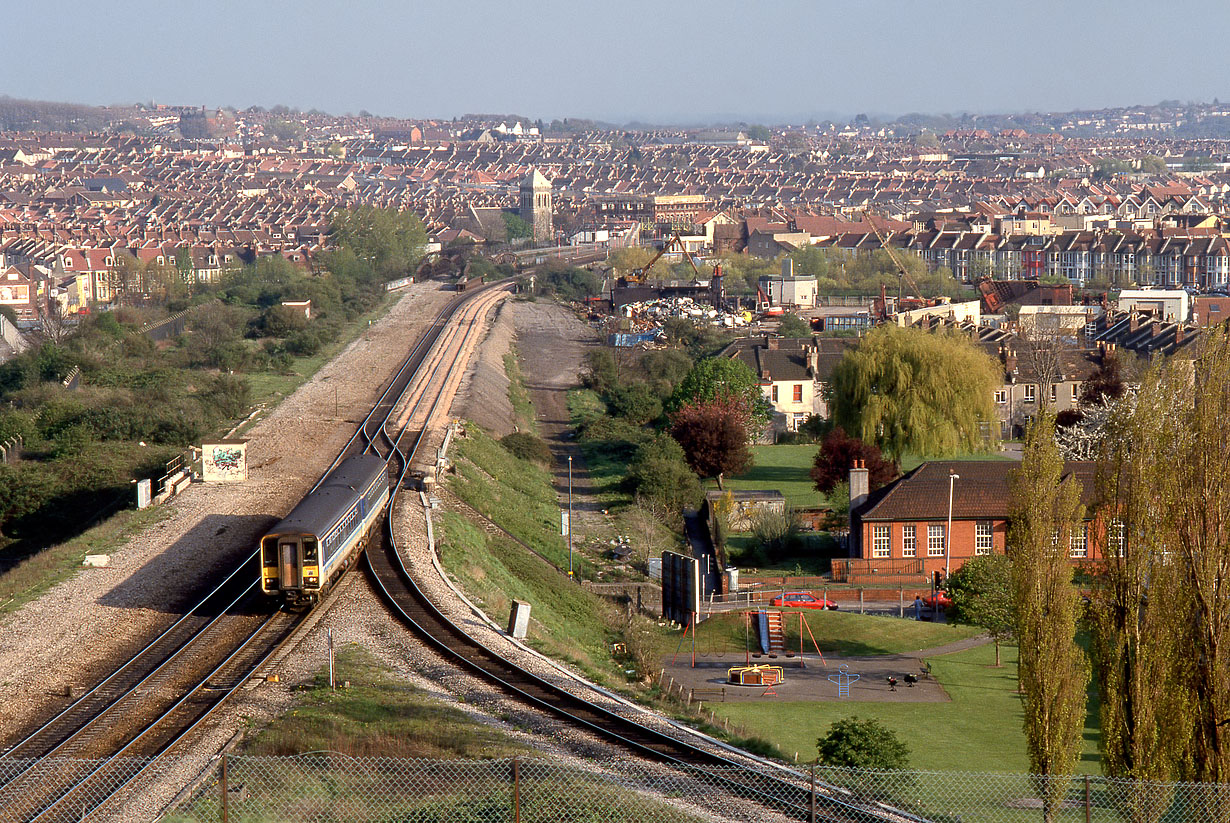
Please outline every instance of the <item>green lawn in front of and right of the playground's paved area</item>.
[[[905, 621], [902, 621], [905, 622]], [[815, 758], [815, 741], [850, 716], [876, 717], [910, 748], [910, 766], [956, 771], [1028, 771], [1021, 699], [1016, 694], [1016, 648], [1004, 648], [1002, 668], [993, 668], [995, 650], [979, 646], [929, 658], [951, 702], [891, 704], [859, 700], [831, 702], [728, 702], [708, 707], [771, 739], [800, 761]], [[1097, 728], [1086, 723], [1077, 771], [1100, 774]]]

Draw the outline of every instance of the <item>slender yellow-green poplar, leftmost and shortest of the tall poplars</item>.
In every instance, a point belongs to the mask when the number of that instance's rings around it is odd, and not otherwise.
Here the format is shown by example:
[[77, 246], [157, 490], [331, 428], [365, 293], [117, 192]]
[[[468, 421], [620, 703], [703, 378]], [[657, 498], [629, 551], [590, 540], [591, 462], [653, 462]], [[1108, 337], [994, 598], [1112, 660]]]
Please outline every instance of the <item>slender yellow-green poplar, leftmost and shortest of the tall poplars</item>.
[[1053, 431], [1054, 417], [1043, 411], [1026, 432], [1025, 455], [1012, 472], [1007, 541], [1025, 738], [1047, 823], [1059, 812], [1064, 777], [1080, 754], [1089, 684], [1089, 661], [1076, 643], [1080, 594], [1068, 560], [1073, 535], [1084, 528], [1084, 506], [1077, 481], [1064, 475]]

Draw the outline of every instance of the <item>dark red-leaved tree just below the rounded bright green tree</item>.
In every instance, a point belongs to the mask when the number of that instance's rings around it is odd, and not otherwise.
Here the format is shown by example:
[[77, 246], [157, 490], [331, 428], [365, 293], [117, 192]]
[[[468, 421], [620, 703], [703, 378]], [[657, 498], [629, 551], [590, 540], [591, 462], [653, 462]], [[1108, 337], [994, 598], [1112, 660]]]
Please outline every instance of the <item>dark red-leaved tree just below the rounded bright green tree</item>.
[[701, 477], [713, 477], [718, 488], [723, 476], [752, 466], [750, 424], [747, 401], [734, 396], [686, 402], [670, 415], [670, 434], [688, 465]]

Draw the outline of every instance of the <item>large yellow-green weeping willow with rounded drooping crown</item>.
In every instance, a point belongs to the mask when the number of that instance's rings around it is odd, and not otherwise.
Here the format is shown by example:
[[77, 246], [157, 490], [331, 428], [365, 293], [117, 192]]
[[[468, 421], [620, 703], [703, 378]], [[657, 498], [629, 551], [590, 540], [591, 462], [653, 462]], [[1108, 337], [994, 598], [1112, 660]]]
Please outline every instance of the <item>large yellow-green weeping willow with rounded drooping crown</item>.
[[951, 456], [983, 445], [995, 362], [957, 332], [881, 326], [833, 369], [833, 422], [889, 456]]

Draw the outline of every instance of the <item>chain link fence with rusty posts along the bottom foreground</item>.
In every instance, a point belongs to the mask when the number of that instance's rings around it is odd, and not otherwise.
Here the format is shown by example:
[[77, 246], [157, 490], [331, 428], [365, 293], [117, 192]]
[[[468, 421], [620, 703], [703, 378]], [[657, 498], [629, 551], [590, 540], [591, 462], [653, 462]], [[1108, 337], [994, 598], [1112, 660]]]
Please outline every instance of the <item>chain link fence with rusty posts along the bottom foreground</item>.
[[[148, 774], [156, 777], [175, 764], [139, 759], [60, 759], [36, 764], [0, 758], [0, 821], [33, 819], [38, 809], [50, 808], [47, 803], [55, 807], [55, 813], [38, 819], [84, 819], [105, 801], [106, 784], [118, 787], [146, 765], [153, 766]], [[73, 790], [75, 779], [65, 780], [69, 775], [91, 774], [109, 776], [103, 785], [92, 786], [91, 795]], [[62, 791], [66, 792], [63, 797], [68, 802], [57, 805]], [[123, 809], [119, 812], [123, 814]], [[1230, 821], [1230, 784], [824, 766], [765, 768], [756, 773], [630, 761], [576, 765], [540, 758], [351, 758], [326, 752], [216, 758], [202, 779], [172, 802], [162, 819], [169, 823], [1223, 823]]]

